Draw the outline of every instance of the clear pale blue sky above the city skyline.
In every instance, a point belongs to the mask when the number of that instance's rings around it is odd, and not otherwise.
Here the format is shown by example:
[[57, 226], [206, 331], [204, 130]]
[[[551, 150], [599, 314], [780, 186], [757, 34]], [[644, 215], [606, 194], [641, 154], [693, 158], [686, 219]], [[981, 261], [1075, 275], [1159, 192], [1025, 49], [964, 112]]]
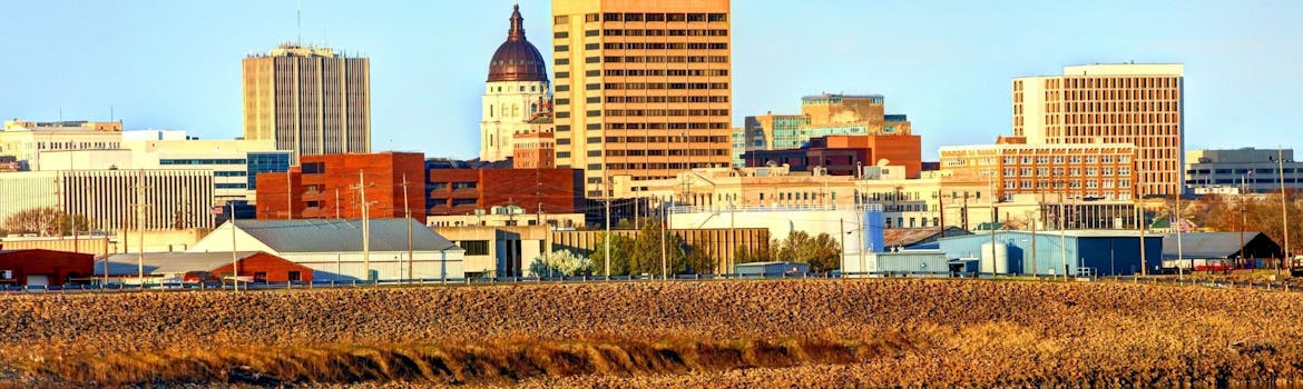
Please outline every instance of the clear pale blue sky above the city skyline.
[[[302, 1], [309, 43], [371, 59], [374, 150], [478, 152], [509, 0]], [[293, 40], [293, 0], [0, 3], [0, 117], [241, 135], [240, 60]], [[523, 4], [550, 57], [550, 1]], [[1186, 64], [1187, 148], [1303, 146], [1303, 1], [734, 0], [734, 124], [883, 94], [924, 156], [1010, 131], [1010, 78]], [[391, 141], [392, 139], [392, 141]], [[392, 146], [391, 146], [392, 144]]]

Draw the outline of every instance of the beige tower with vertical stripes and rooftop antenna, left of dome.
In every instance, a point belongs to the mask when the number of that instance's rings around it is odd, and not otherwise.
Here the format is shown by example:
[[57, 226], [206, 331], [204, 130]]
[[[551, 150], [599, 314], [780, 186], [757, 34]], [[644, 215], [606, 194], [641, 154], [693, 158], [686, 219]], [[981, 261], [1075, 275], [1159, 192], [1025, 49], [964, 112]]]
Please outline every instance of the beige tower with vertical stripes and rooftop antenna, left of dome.
[[370, 60], [281, 44], [244, 59], [245, 139], [304, 155], [370, 152]]

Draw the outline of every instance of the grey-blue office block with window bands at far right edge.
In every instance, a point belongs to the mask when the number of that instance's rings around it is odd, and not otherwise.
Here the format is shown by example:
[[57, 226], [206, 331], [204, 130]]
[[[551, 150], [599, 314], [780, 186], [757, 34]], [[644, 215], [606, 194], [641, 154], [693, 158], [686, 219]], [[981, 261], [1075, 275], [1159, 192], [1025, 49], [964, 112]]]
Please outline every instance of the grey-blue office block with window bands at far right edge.
[[1294, 150], [1186, 152], [1186, 187], [1195, 193], [1272, 193], [1281, 190], [1282, 180], [1286, 189], [1303, 189], [1303, 163], [1294, 160]]

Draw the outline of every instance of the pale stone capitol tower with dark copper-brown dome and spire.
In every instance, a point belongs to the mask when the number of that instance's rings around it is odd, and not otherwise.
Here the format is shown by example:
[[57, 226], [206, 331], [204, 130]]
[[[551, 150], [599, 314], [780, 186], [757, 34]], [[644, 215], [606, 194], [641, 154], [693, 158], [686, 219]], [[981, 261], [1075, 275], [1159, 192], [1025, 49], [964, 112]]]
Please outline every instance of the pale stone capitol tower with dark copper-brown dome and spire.
[[480, 160], [500, 161], [512, 156], [512, 138], [528, 133], [529, 121], [547, 105], [547, 62], [525, 39], [520, 5], [511, 13], [507, 42], [489, 62], [483, 114], [480, 121]]

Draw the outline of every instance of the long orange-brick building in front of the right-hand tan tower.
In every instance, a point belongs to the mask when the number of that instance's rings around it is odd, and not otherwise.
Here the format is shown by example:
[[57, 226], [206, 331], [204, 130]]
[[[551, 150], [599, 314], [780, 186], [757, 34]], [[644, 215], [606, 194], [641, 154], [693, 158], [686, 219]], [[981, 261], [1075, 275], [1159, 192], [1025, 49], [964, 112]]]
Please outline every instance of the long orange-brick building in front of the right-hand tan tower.
[[1130, 143], [949, 146], [941, 147], [941, 169], [990, 177], [999, 199], [1041, 194], [1131, 200], [1140, 177], [1136, 154]]

